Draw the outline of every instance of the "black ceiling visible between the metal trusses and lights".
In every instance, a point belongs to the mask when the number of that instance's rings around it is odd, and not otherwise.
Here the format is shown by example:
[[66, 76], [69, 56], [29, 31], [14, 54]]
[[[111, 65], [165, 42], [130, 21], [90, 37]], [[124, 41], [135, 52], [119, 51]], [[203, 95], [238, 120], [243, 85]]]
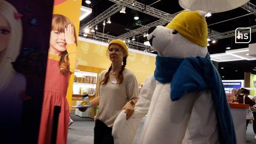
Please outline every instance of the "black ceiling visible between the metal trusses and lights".
[[[183, 10], [180, 7], [178, 1], [138, 0], [138, 2], [170, 14], [174, 14]], [[256, 1], [250, 1], [250, 3], [256, 5]], [[82, 5], [91, 7], [92, 13], [81, 21], [80, 26], [85, 25], [85, 23], [91, 21], [93, 18], [97, 17], [99, 14], [114, 4], [115, 3], [107, 0], [95, 0], [92, 1], [90, 5], [87, 5], [83, 1]], [[141, 26], [145, 26], [151, 22], [159, 20], [158, 18], [151, 15], [132, 10], [129, 7], [126, 7], [125, 11], [125, 14], [117, 12], [111, 15], [111, 23], [105, 26], [104, 34], [119, 36], [129, 32], [130, 30], [140, 28]], [[133, 19], [135, 14], [138, 14], [140, 18], [137, 21]], [[241, 7], [238, 7], [237, 9], [227, 12], [213, 13], [211, 17], [206, 18], [206, 21], [210, 29], [224, 33], [230, 30], [235, 30], [238, 27], [250, 27], [256, 25], [256, 13], [253, 14], [242, 9]], [[165, 23], [165, 25], [166, 24], [167, 23]], [[98, 24], [97, 31], [103, 33], [102, 22]], [[143, 43], [147, 41], [146, 37], [143, 37], [143, 34], [136, 35], [135, 37], [135, 41], [137, 42]], [[256, 43], [256, 33], [252, 33], [251, 42], [249, 44], [251, 43]], [[234, 37], [223, 38], [218, 39], [217, 43], [215, 44], [210, 42], [208, 51], [210, 54], [224, 53], [226, 51], [226, 47], [231, 47], [230, 50], [235, 50], [249, 47], [249, 44], [236, 44]], [[244, 79], [244, 72], [256, 74], [256, 71], [252, 70], [254, 67], [256, 67], [256, 60], [219, 62], [218, 65], [220, 75], [224, 76], [222, 79]], [[220, 69], [221, 67], [224, 68]]]

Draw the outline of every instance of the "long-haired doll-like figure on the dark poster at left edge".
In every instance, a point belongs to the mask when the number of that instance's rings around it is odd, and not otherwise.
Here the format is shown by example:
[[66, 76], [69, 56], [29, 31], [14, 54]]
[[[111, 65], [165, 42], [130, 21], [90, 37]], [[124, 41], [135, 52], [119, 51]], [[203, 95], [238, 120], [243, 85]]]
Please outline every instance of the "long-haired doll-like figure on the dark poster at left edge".
[[[12, 63], [20, 53], [22, 41], [21, 14], [9, 2], [0, 0], [0, 123], [1, 143], [17, 143], [26, 77], [17, 73]], [[15, 131], [15, 138], [13, 132]]]

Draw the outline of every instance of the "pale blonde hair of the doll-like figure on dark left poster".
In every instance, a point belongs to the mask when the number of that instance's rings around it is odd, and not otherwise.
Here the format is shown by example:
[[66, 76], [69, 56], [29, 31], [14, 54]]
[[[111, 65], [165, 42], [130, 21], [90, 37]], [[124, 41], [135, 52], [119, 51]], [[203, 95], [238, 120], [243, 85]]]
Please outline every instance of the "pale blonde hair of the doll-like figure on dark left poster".
[[15, 61], [20, 53], [22, 24], [20, 19], [14, 18], [14, 13], [18, 12], [12, 4], [0, 0], [0, 15], [4, 17], [11, 28], [9, 43], [7, 44], [6, 49], [0, 53], [0, 90], [4, 90], [6, 88], [15, 74], [12, 62]]

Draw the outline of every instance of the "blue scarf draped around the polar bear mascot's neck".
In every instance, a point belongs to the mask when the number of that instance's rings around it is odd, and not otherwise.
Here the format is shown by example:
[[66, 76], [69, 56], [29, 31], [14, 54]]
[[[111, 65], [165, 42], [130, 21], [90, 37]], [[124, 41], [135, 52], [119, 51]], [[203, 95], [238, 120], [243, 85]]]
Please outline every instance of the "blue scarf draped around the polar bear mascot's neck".
[[227, 97], [218, 70], [205, 58], [170, 58], [156, 56], [154, 76], [161, 83], [171, 83], [171, 100], [179, 100], [190, 92], [211, 90], [220, 143], [236, 143], [236, 135]]

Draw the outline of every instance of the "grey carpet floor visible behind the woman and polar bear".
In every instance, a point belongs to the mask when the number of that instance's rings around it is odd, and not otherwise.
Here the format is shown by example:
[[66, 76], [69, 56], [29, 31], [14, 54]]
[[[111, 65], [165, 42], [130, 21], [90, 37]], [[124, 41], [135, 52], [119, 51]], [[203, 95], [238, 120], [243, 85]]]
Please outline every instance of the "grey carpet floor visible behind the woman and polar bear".
[[[93, 144], [94, 135], [94, 120], [92, 118], [81, 118], [74, 114], [74, 110], [71, 111], [70, 117], [73, 119], [74, 123], [68, 129], [68, 144]], [[146, 117], [145, 117], [146, 118]], [[142, 126], [145, 122], [145, 118], [140, 122], [137, 134], [134, 141], [137, 141], [138, 135], [141, 132]], [[256, 144], [256, 139], [254, 139], [254, 133], [252, 129], [252, 124], [249, 124], [246, 131], [247, 143]], [[135, 143], [135, 142], [134, 142]], [[241, 143], [238, 143], [241, 144]]]

